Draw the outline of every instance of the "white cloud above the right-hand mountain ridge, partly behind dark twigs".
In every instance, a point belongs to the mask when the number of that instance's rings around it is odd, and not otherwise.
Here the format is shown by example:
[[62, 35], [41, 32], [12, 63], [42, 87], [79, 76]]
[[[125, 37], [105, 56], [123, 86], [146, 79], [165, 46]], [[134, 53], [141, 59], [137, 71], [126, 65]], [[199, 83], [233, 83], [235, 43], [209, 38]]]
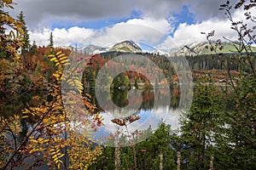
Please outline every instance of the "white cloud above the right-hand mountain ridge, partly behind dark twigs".
[[[252, 9], [255, 13], [256, 9]], [[253, 27], [252, 22], [248, 22], [243, 14], [242, 10], [236, 10], [236, 13], [233, 14], [234, 21], [243, 21], [247, 23], [248, 27]], [[230, 28], [231, 23], [227, 18], [220, 20], [218, 18], [212, 18], [210, 20], [204, 20], [201, 23], [195, 23], [188, 25], [187, 23], [181, 23], [177, 26], [177, 30], [173, 33], [173, 36], [166, 38], [157, 48], [160, 49], [170, 49], [177, 48], [184, 44], [194, 43], [194, 42], [205, 42], [207, 41], [206, 35], [201, 34], [201, 32], [209, 33], [215, 31], [214, 37], [212, 40], [221, 39], [224, 40], [224, 37], [232, 41], [237, 40], [237, 32]], [[254, 31], [255, 32], [255, 31]]]

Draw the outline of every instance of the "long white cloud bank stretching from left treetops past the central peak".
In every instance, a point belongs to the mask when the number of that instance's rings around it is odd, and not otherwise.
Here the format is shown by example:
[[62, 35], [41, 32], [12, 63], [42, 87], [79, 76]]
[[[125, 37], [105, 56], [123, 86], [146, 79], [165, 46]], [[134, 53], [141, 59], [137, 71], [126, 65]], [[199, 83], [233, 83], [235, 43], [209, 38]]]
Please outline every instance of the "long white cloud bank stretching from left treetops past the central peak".
[[[162, 41], [162, 38], [172, 30], [172, 25], [165, 19], [154, 20], [146, 18], [127, 20], [98, 31], [74, 26], [69, 29], [55, 28], [52, 32], [55, 46], [68, 46], [79, 43], [84, 46], [95, 44], [104, 47], [124, 40], [144, 42], [154, 46], [154, 44]], [[30, 31], [29, 33], [31, 40], [35, 40], [38, 45], [47, 45], [49, 43], [49, 29]]]

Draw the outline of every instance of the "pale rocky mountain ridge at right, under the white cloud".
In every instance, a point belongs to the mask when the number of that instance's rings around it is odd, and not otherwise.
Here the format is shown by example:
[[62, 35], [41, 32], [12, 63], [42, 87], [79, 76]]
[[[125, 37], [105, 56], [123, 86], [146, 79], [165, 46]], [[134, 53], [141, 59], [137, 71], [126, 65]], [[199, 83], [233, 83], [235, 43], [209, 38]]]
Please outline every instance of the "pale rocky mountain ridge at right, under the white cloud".
[[[217, 53], [224, 54], [234, 54], [237, 53], [236, 48], [232, 43], [224, 43], [224, 48], [222, 50], [218, 49]], [[210, 50], [209, 44], [207, 42], [201, 43], [191, 43], [188, 45], [183, 45], [180, 48], [174, 48], [170, 51], [171, 56], [185, 56], [185, 55], [201, 55], [201, 54], [214, 54]], [[256, 52], [256, 47], [252, 47], [253, 52]]]

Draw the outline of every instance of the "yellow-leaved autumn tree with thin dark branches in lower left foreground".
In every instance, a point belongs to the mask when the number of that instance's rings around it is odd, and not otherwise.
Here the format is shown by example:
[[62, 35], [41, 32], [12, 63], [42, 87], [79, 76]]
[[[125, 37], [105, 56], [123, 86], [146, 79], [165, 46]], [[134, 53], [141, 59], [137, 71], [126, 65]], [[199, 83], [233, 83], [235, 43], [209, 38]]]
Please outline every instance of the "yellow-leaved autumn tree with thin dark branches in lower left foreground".
[[[92, 147], [93, 143], [90, 141], [90, 127], [94, 123], [95, 126], [101, 126], [101, 117], [96, 115], [91, 119], [79, 118], [92, 114], [91, 110], [81, 109], [83, 105], [93, 108], [88, 96], [84, 96], [81, 103], [75, 95], [83, 90], [76, 71], [80, 68], [70, 67], [64, 72], [64, 67], [70, 65], [71, 58], [68, 59], [61, 52], [50, 54], [49, 58], [56, 66], [53, 73], [55, 83], [44, 84], [48, 97], [43, 104], [29, 106], [20, 116], [0, 116], [0, 150], [5, 153], [0, 157], [0, 167], [3, 169], [41, 166], [50, 169], [87, 169], [102, 152], [100, 146]], [[68, 84], [73, 90], [68, 90], [65, 95], [65, 92], [61, 92], [61, 83]], [[78, 113], [79, 115], [74, 115]], [[32, 117], [34, 125], [20, 139], [20, 133], [23, 133], [20, 123], [26, 122], [27, 117]], [[82, 121], [79, 123], [84, 126], [74, 127], [76, 120]], [[81, 133], [82, 130], [84, 133]], [[32, 163], [26, 160], [32, 160]]]

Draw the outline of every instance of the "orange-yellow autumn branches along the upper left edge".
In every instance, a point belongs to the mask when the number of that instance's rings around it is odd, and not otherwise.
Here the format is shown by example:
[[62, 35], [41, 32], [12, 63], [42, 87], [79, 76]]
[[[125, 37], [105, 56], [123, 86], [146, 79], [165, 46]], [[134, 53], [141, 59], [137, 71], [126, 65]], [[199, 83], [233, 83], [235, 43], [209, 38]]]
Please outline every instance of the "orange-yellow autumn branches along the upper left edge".
[[[9, 98], [10, 94], [15, 94], [21, 84], [12, 82], [23, 82], [24, 77], [20, 65], [19, 48], [23, 45], [22, 23], [15, 20], [4, 11], [4, 8], [14, 9], [12, 1], [3, 0], [0, 3], [0, 61], [3, 64], [1, 70], [0, 93]], [[9, 31], [7, 31], [7, 28]], [[5, 68], [5, 69], [4, 69]], [[8, 95], [7, 95], [8, 94]]]

